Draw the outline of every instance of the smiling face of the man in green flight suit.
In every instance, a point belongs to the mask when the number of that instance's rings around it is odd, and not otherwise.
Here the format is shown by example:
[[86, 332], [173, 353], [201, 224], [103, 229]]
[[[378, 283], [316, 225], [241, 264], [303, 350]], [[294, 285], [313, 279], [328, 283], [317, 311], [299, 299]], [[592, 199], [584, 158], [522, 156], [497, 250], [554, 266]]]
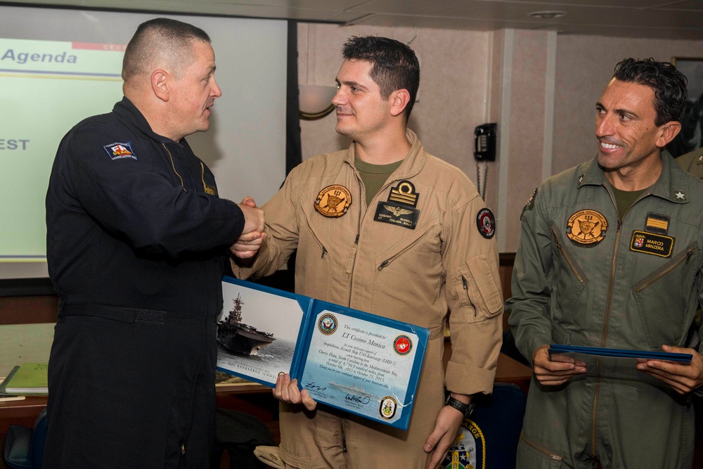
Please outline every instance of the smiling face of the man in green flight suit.
[[595, 105], [598, 164], [623, 175], [661, 165], [659, 150], [666, 139], [664, 127], [654, 120], [654, 89], [612, 79]]

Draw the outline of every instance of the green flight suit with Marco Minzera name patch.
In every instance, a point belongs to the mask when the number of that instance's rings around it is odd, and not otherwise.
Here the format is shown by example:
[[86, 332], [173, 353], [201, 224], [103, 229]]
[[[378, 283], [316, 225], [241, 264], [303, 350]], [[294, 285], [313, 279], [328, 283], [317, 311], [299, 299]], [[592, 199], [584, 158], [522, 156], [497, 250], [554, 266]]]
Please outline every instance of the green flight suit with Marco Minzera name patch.
[[[622, 220], [597, 158], [547, 179], [530, 198], [506, 303], [529, 360], [554, 343], [685, 346], [701, 302], [703, 183], [668, 154], [662, 161], [657, 182]], [[691, 396], [635, 366], [592, 359], [586, 375], [560, 386], [533, 377], [518, 467], [690, 468]]]

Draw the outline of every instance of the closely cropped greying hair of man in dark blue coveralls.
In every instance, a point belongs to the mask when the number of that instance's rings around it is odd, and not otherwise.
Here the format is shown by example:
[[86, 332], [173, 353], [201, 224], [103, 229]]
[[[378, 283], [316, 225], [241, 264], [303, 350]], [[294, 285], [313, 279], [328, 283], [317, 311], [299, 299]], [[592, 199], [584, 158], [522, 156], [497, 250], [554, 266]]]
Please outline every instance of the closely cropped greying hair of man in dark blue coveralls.
[[209, 44], [210, 37], [199, 27], [169, 18], [154, 18], [141, 23], [124, 49], [122, 79], [150, 72], [155, 57], [164, 58], [179, 75], [193, 61], [193, 42]]

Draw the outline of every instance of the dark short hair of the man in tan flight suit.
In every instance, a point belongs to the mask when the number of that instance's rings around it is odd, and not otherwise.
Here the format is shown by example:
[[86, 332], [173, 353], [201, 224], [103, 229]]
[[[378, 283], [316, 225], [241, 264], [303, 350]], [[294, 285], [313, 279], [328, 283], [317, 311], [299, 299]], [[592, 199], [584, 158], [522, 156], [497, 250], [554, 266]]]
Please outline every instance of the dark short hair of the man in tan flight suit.
[[420, 88], [420, 61], [407, 44], [377, 36], [352, 36], [342, 48], [345, 59], [366, 60], [372, 64], [369, 75], [387, 98], [396, 89], [406, 89], [410, 101], [405, 108], [410, 117]]

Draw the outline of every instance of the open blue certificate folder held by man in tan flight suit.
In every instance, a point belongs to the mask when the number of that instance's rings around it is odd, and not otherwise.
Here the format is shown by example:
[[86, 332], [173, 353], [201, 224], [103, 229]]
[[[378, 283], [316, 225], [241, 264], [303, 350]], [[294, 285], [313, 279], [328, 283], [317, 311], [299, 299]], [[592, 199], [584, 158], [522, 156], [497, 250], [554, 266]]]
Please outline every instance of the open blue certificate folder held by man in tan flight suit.
[[225, 276], [217, 369], [406, 430], [430, 330]]

